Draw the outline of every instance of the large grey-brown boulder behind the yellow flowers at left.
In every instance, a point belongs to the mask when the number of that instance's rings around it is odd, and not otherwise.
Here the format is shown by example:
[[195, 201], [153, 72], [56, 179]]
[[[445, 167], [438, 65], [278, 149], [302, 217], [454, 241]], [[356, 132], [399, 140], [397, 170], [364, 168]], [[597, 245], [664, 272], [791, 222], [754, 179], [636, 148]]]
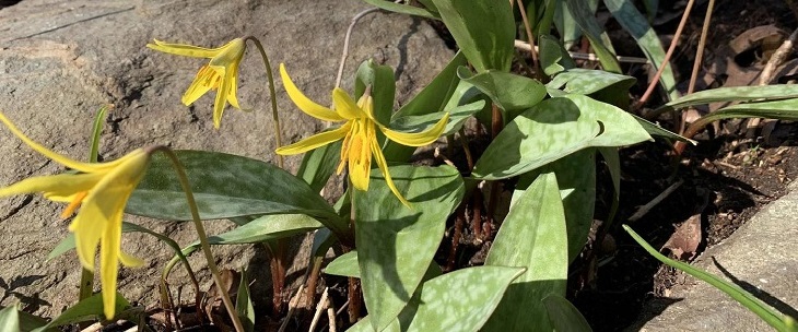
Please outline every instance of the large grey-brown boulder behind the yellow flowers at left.
[[[220, 130], [212, 124], [213, 93], [192, 107], [180, 96], [204, 60], [160, 54], [144, 45], [153, 38], [218, 47], [251, 35], [267, 48], [274, 69], [285, 62], [305, 93], [330, 102], [350, 20], [368, 5], [357, 0], [312, 1], [89, 1], [24, 0], [0, 10], [0, 110], [32, 139], [73, 158], [84, 158], [94, 114], [103, 104], [115, 108], [102, 135], [101, 156], [113, 159], [136, 147], [166, 144], [273, 161], [272, 122], [262, 62], [247, 51], [239, 76], [239, 100], [254, 112], [227, 109]], [[392, 66], [400, 102], [407, 102], [446, 64], [453, 52], [424, 22], [403, 15], [374, 13], [359, 23], [351, 40], [344, 82], [365, 59]], [[324, 128], [291, 104], [278, 79], [278, 105], [283, 137], [295, 142]], [[0, 185], [32, 175], [63, 170], [0, 129]], [[295, 169], [298, 157], [289, 159]], [[59, 220], [60, 204], [38, 194], [0, 200], [0, 305], [21, 301], [28, 311], [59, 313], [75, 303], [79, 266], [73, 252], [45, 262], [68, 230]], [[179, 244], [196, 238], [190, 224], [126, 217], [164, 233]], [[210, 222], [209, 233], [230, 228]], [[124, 236], [124, 248], [145, 258], [142, 269], [122, 269], [119, 287], [128, 298], [155, 304], [155, 285], [169, 249], [151, 237]], [[269, 284], [268, 258], [250, 247], [215, 248], [222, 266], [247, 266]], [[295, 257], [289, 278], [302, 275], [307, 253]], [[195, 256], [203, 285], [204, 263]], [[187, 284], [176, 269], [173, 285]], [[268, 288], [268, 286], [267, 286]], [[191, 298], [184, 287], [183, 299]], [[257, 296], [256, 296], [257, 297]]]

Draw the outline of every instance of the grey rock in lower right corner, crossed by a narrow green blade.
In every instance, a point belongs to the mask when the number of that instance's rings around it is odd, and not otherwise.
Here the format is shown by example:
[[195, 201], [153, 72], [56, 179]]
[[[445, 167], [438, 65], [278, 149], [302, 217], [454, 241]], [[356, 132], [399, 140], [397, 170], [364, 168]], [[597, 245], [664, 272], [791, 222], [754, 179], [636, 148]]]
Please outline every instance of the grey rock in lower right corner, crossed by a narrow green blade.
[[[798, 182], [694, 265], [726, 276], [777, 310], [798, 318]], [[690, 276], [668, 299], [649, 304], [630, 331], [772, 331], [730, 296]]]

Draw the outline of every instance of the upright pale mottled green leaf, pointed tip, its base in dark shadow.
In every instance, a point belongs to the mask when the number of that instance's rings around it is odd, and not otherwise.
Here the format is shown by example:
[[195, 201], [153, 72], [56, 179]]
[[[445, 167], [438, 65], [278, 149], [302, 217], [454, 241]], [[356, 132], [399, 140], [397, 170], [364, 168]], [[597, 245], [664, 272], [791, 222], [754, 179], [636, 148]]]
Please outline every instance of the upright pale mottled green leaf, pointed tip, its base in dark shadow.
[[551, 294], [565, 296], [567, 248], [558, 178], [553, 173], [541, 174], [511, 206], [488, 252], [485, 265], [527, 271], [509, 285], [484, 329], [551, 331], [542, 300]]

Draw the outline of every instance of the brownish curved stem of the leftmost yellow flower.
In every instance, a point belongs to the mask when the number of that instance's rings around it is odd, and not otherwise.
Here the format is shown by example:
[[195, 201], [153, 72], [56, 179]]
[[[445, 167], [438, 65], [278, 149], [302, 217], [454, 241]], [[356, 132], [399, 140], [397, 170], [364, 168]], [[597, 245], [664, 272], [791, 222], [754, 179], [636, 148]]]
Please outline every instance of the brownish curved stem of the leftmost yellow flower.
[[[191, 211], [191, 221], [193, 222], [193, 226], [197, 228], [197, 235], [199, 236], [200, 246], [202, 247], [202, 253], [204, 253], [206, 260], [208, 261], [208, 268], [211, 270], [213, 282], [216, 284], [216, 287], [219, 287], [219, 289], [225, 289], [224, 284], [222, 283], [222, 278], [219, 275], [219, 268], [216, 268], [216, 262], [213, 259], [213, 253], [211, 253], [211, 246], [208, 245], [208, 235], [206, 234], [206, 228], [204, 226], [202, 226], [202, 222], [200, 222], [199, 218], [199, 210], [197, 209], [197, 202], [193, 200], [191, 185], [188, 182], [188, 176], [186, 176], [186, 170], [184, 169], [183, 164], [180, 164], [180, 161], [177, 158], [177, 155], [174, 151], [172, 151], [172, 149], [162, 145], [153, 149], [151, 153], [154, 153], [156, 151], [161, 151], [166, 154], [172, 161], [172, 165], [175, 167], [175, 171], [177, 171], [177, 177], [180, 179], [180, 186], [183, 186], [183, 191], [186, 192], [188, 209]], [[242, 322], [238, 319], [238, 315], [235, 311], [235, 307], [233, 306], [233, 301], [230, 299], [227, 292], [221, 292], [221, 295], [222, 303], [224, 303], [224, 307], [227, 309], [227, 315], [230, 315], [230, 319], [233, 321], [233, 327], [237, 332], [244, 332], [244, 325], [242, 325]]]

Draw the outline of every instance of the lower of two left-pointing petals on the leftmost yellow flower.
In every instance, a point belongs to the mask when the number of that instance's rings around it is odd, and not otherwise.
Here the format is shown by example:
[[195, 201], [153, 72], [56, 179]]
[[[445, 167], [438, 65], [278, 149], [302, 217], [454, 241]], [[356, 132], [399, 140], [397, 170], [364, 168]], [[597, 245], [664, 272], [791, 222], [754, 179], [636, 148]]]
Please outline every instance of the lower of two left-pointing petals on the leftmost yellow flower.
[[104, 174], [59, 174], [50, 176], [32, 177], [0, 188], [0, 197], [44, 192], [46, 199], [62, 202], [67, 198], [86, 191], [94, 187]]

